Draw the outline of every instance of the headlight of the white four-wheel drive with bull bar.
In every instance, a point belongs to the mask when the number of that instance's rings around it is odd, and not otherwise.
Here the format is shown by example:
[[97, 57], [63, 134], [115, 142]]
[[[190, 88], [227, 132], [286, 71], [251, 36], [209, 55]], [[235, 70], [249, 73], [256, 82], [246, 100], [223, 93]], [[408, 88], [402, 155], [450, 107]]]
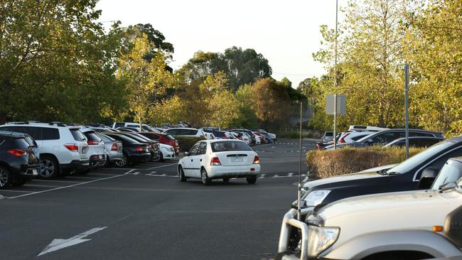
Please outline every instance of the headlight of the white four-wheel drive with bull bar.
[[318, 227], [308, 224], [308, 256], [316, 257], [331, 247], [338, 239], [340, 228]]

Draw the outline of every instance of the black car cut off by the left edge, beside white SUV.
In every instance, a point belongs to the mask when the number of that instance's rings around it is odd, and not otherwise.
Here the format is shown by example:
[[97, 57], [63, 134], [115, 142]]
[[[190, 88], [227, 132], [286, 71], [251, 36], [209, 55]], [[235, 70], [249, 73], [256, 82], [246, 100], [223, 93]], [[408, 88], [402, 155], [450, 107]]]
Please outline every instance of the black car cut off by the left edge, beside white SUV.
[[0, 131], [0, 189], [21, 186], [38, 175], [39, 161], [26, 134]]

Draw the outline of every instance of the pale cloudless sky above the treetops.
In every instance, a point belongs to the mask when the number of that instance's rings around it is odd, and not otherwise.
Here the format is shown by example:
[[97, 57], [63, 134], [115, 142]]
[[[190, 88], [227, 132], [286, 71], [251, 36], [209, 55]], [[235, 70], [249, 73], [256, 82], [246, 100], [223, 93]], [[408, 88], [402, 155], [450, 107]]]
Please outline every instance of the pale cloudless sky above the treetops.
[[312, 53], [321, 48], [319, 26], [335, 26], [335, 0], [100, 0], [97, 9], [107, 26], [151, 23], [175, 48], [174, 70], [198, 50], [223, 52], [235, 45], [262, 53], [272, 77], [287, 77], [292, 87], [326, 71]]

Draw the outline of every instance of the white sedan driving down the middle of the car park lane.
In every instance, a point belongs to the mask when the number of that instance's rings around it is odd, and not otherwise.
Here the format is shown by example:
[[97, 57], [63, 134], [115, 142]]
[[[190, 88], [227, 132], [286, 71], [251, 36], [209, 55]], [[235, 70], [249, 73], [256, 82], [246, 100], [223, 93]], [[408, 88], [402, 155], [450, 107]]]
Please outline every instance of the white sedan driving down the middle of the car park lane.
[[204, 185], [213, 179], [228, 182], [230, 178], [246, 178], [254, 184], [260, 173], [258, 154], [239, 140], [204, 140], [195, 143], [178, 162], [178, 177], [200, 178]]

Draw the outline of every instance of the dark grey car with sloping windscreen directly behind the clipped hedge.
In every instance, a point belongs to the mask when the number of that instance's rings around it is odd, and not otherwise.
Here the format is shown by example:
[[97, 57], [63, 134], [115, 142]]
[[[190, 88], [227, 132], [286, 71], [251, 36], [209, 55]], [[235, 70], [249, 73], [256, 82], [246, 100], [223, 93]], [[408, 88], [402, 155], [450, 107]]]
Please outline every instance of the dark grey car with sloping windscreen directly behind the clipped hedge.
[[[406, 129], [388, 129], [383, 131], [377, 131], [368, 136], [362, 137], [358, 141], [353, 141], [352, 143], [338, 143], [337, 148], [342, 148], [345, 146], [349, 147], [367, 147], [372, 145], [385, 146], [385, 144], [390, 143], [396, 139], [406, 136]], [[426, 131], [421, 129], [409, 129], [409, 136], [429, 136], [429, 137], [440, 137], [444, 138], [443, 134], [436, 131]], [[332, 149], [332, 146], [326, 146], [326, 150]]]

